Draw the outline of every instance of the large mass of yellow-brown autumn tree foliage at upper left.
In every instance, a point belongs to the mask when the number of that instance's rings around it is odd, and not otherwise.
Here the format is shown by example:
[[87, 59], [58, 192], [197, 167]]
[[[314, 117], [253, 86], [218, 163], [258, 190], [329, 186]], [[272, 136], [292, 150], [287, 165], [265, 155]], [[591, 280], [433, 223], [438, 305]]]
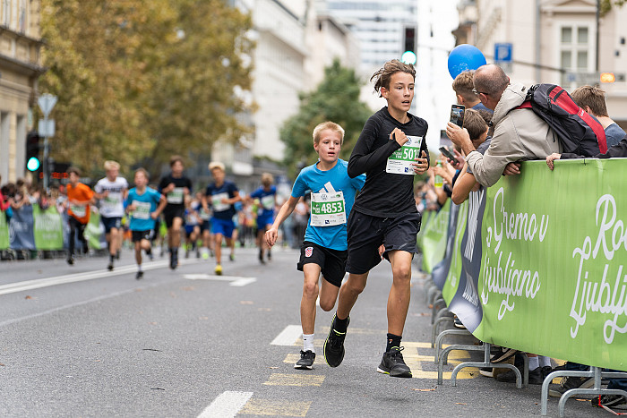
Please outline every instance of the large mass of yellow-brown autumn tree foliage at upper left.
[[[88, 172], [236, 141], [249, 110], [250, 16], [224, 0], [42, 0], [39, 91], [55, 94], [52, 156]], [[154, 168], [154, 167], [153, 167]]]

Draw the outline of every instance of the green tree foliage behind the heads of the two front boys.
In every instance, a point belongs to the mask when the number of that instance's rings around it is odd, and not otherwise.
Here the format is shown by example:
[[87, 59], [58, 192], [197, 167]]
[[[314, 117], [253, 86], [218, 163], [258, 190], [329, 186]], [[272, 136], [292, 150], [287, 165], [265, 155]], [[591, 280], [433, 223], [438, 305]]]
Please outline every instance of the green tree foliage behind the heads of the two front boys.
[[288, 175], [296, 174], [296, 165], [314, 164], [312, 132], [317, 124], [332, 121], [345, 130], [340, 158], [348, 159], [365, 121], [371, 115], [364, 102], [359, 101], [360, 81], [355, 71], [344, 68], [335, 60], [324, 70], [324, 80], [310, 93], [300, 94], [298, 113], [290, 117], [280, 130], [280, 140], [286, 144], [285, 163]]

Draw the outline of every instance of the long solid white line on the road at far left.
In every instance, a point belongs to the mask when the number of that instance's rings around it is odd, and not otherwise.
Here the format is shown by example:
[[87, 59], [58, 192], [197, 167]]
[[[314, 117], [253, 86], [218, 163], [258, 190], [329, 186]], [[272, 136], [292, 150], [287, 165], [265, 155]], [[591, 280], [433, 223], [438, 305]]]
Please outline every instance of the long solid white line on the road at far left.
[[[197, 260], [181, 260], [181, 264], [192, 264], [200, 262]], [[159, 260], [159, 261], [150, 261], [147, 263], [142, 263], [142, 269], [152, 270], [152, 269], [162, 269], [168, 266], [167, 260]], [[46, 277], [46, 278], [37, 278], [34, 280], [26, 280], [22, 282], [9, 283], [7, 285], [0, 286], [0, 294], [13, 294], [17, 292], [24, 292], [26, 290], [40, 289], [42, 287], [49, 286], [57, 286], [57, 285], [65, 285], [68, 283], [74, 282], [84, 282], [87, 280], [93, 280], [96, 278], [102, 277], [112, 277], [112, 276], [120, 276], [128, 273], [133, 273], [137, 271], [137, 266], [135, 264], [128, 266], [116, 267], [113, 271], [108, 271], [105, 269], [98, 269], [94, 271], [86, 271], [84, 273], [74, 273], [68, 274], [64, 276], [56, 276], [56, 277]]]

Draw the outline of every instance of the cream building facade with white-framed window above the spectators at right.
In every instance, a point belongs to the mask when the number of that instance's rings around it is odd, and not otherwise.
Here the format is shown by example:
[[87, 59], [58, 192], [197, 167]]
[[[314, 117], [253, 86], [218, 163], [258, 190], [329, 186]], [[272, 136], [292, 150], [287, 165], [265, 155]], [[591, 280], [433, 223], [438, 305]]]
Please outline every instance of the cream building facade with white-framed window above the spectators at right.
[[[597, 19], [596, 0], [462, 0], [458, 43], [481, 49], [494, 62], [495, 45], [511, 44], [511, 62], [502, 63], [512, 80], [550, 82], [574, 90], [599, 84], [606, 90], [610, 117], [627, 128], [627, 6]], [[601, 82], [600, 73], [614, 73]]]

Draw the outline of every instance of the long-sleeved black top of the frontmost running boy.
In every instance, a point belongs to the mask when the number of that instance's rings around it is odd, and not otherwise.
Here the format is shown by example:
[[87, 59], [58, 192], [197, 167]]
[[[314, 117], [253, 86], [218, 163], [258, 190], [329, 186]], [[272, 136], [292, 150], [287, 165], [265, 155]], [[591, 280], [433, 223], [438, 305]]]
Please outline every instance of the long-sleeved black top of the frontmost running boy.
[[[353, 210], [379, 218], [394, 218], [417, 212], [414, 200], [414, 176], [385, 172], [387, 159], [400, 148], [399, 142], [390, 140], [394, 128], [406, 135], [424, 137], [428, 125], [424, 119], [408, 114], [409, 122], [401, 124], [383, 107], [366, 121], [364, 129], [348, 160], [348, 175], [356, 177], [365, 173], [365, 184], [356, 197]], [[420, 147], [429, 151], [426, 142]]]

